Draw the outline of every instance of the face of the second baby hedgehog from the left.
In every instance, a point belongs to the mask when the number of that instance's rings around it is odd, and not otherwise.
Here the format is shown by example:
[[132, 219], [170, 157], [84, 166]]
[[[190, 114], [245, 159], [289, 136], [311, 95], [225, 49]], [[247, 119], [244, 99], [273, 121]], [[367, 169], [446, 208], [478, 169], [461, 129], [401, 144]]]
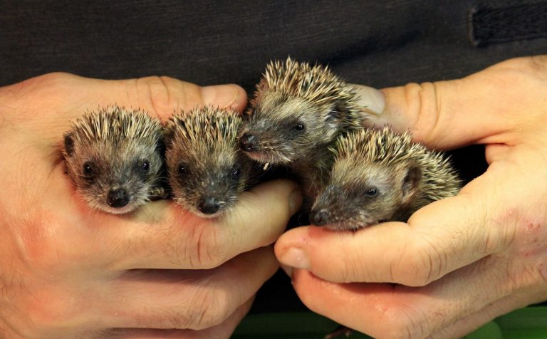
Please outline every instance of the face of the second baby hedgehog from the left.
[[[184, 147], [176, 139], [167, 147], [172, 195], [199, 217], [218, 217], [236, 204], [251, 177], [251, 162], [231, 147]], [[227, 146], [227, 145], [225, 145]]]

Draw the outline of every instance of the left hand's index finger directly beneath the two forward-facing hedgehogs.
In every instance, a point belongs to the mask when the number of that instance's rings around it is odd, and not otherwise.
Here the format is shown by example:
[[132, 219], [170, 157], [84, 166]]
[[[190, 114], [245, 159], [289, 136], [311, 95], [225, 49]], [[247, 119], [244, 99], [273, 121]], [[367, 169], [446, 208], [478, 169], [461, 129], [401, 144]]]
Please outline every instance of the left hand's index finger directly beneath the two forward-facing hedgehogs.
[[[89, 260], [101, 263], [110, 272], [130, 268], [212, 268], [237, 254], [273, 243], [300, 204], [298, 186], [276, 180], [244, 192], [236, 207], [217, 219], [202, 219], [163, 201], [147, 204], [131, 216], [81, 212], [93, 216], [74, 224], [81, 225], [80, 232], [89, 235]], [[81, 252], [77, 249], [65, 255]]]

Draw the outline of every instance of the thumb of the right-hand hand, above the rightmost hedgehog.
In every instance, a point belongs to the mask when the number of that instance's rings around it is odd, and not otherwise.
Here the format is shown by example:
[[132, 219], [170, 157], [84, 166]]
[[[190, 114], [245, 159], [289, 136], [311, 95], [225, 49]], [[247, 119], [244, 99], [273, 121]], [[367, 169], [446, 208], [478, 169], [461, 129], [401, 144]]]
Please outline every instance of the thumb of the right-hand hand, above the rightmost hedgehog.
[[[410, 130], [415, 141], [449, 149], [473, 143], [508, 142], [516, 123], [533, 120], [543, 103], [547, 56], [514, 58], [462, 79], [409, 83], [374, 92], [355, 86], [370, 125]], [[381, 93], [382, 95], [379, 95]]]

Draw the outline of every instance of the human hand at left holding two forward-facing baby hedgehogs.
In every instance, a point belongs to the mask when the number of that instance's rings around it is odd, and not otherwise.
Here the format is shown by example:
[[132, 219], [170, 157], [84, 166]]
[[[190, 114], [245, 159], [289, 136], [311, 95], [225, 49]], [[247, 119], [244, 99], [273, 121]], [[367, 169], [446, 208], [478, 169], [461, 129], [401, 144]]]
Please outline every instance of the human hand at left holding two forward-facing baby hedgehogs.
[[205, 103], [241, 111], [246, 95], [236, 85], [64, 73], [0, 88], [0, 337], [228, 338], [276, 271], [264, 246], [300, 194], [290, 182], [265, 183], [225, 219], [165, 200], [123, 216], [94, 211], [59, 147], [70, 120], [113, 103], [165, 120]]

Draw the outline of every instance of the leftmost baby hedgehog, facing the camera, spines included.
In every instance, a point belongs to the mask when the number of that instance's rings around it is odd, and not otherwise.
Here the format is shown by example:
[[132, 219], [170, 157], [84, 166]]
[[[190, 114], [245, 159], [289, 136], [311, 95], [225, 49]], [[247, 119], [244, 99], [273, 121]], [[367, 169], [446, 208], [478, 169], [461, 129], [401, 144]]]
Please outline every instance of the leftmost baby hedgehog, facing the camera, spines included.
[[143, 110], [112, 105], [85, 113], [65, 133], [62, 152], [93, 208], [122, 214], [167, 195], [162, 124]]

